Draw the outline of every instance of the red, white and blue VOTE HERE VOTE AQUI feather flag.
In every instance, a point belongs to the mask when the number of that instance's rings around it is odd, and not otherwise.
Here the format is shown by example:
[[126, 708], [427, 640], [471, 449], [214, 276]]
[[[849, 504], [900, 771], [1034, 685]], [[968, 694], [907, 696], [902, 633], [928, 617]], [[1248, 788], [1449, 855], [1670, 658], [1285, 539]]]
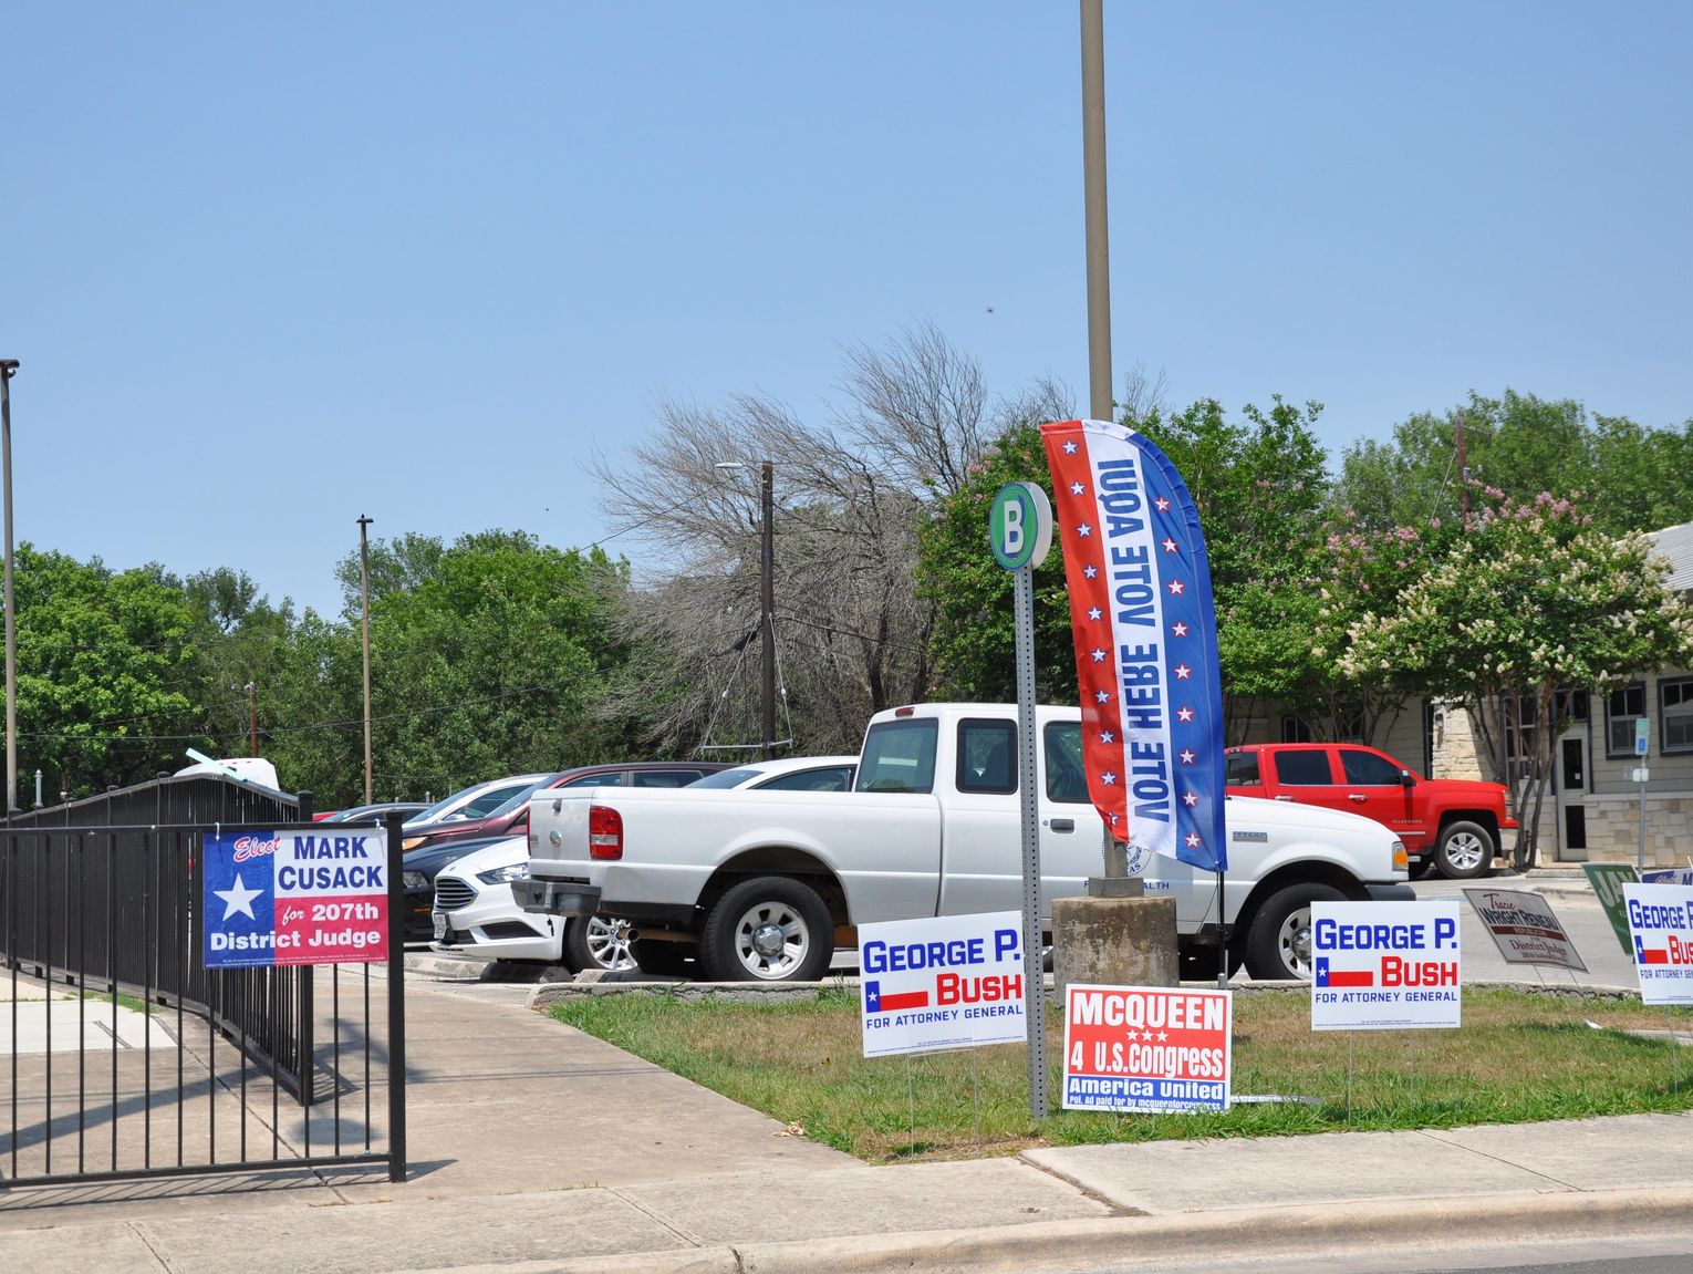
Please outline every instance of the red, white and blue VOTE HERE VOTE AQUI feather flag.
[[1094, 806], [1136, 849], [1224, 871], [1222, 686], [1194, 498], [1143, 434], [1041, 425]]

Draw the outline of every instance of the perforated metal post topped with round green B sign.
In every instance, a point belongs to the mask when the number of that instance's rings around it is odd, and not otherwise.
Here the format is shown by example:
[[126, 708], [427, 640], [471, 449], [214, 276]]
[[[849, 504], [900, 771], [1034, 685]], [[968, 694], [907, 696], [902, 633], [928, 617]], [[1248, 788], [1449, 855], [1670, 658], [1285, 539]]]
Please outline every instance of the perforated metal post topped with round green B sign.
[[1017, 634], [1017, 798], [1023, 810], [1023, 969], [1028, 993], [1029, 1115], [1046, 1118], [1046, 944], [1041, 935], [1041, 828], [1034, 789], [1034, 568], [1053, 546], [1051, 501], [1034, 483], [1006, 483], [987, 515], [994, 559], [1011, 571]]

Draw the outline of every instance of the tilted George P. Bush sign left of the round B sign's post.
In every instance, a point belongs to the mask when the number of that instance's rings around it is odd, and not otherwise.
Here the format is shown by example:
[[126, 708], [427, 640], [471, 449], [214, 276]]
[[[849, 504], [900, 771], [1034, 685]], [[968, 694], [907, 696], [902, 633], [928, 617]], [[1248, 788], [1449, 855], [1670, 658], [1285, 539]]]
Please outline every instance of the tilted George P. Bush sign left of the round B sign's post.
[[1024, 1044], [1023, 913], [858, 927], [863, 1055]]

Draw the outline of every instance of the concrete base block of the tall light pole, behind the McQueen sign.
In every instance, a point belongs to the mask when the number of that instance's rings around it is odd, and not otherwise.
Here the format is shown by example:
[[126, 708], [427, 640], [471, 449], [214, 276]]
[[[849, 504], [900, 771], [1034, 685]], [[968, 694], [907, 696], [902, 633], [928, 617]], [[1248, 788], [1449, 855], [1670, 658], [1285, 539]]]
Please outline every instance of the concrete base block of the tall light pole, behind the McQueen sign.
[[1053, 983], [1175, 986], [1175, 898], [1055, 898]]

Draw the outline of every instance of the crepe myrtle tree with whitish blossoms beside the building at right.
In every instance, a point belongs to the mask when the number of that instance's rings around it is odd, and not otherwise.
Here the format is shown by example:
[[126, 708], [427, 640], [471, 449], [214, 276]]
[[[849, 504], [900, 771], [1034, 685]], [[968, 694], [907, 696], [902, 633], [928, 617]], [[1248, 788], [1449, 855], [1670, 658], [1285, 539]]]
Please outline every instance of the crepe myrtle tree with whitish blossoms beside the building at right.
[[1532, 866], [1551, 769], [1559, 690], [1608, 690], [1627, 676], [1683, 664], [1693, 608], [1664, 588], [1668, 562], [1644, 535], [1593, 527], [1571, 500], [1541, 495], [1486, 503], [1429, 571], [1348, 629], [1339, 669], [1356, 683], [1417, 679], [1429, 693], [1481, 706], [1536, 706], [1527, 740], [1532, 810], [1515, 861]]

